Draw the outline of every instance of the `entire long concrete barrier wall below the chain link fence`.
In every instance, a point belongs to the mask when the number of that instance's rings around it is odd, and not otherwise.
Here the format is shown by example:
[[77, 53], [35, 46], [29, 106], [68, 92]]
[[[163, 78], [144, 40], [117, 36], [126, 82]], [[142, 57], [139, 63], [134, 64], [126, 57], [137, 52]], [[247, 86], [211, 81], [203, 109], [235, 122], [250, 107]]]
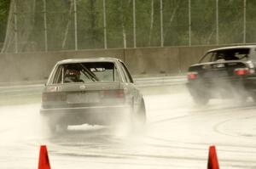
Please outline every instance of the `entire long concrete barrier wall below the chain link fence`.
[[115, 57], [125, 61], [132, 75], [177, 74], [186, 72], [210, 48], [128, 48], [67, 52], [0, 54], [0, 82], [45, 80], [55, 63], [61, 59]]

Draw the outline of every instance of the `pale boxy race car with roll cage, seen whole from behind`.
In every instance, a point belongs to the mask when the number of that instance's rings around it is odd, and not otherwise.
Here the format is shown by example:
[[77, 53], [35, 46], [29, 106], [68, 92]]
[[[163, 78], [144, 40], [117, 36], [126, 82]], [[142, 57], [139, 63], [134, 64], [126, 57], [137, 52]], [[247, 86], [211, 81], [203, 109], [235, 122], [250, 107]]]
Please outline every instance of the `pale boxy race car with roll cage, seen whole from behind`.
[[143, 95], [125, 64], [115, 58], [57, 62], [42, 93], [40, 114], [54, 132], [84, 123], [128, 121], [132, 127], [143, 127], [146, 121]]

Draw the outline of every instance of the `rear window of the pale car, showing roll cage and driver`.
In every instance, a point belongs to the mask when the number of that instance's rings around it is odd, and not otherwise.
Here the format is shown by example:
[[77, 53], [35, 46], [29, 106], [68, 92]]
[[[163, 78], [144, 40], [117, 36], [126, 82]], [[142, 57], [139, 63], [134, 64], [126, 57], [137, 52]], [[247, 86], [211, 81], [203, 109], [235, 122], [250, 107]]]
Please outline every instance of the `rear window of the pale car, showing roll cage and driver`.
[[87, 62], [60, 65], [53, 83], [119, 81], [119, 73], [112, 62]]

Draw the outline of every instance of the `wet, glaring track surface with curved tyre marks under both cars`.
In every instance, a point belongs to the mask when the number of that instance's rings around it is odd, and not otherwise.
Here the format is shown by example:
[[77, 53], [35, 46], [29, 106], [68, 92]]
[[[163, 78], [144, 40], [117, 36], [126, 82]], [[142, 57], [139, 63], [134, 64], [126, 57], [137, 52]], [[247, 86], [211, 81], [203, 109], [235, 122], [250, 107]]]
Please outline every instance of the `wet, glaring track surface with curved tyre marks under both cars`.
[[0, 168], [37, 168], [40, 144], [48, 146], [53, 169], [207, 168], [212, 144], [221, 168], [256, 168], [252, 101], [212, 100], [197, 107], [184, 88], [154, 94], [150, 87], [143, 90], [148, 112], [143, 133], [122, 125], [83, 125], [51, 135], [42, 126], [39, 103], [1, 106]]

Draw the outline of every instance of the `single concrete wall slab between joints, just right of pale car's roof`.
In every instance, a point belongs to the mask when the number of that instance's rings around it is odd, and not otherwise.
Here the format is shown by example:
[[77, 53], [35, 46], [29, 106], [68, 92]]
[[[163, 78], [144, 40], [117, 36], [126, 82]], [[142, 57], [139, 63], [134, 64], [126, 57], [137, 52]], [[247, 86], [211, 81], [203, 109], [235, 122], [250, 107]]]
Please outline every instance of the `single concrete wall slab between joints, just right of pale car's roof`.
[[125, 50], [125, 64], [131, 74], [179, 72], [178, 48], [137, 48]]

